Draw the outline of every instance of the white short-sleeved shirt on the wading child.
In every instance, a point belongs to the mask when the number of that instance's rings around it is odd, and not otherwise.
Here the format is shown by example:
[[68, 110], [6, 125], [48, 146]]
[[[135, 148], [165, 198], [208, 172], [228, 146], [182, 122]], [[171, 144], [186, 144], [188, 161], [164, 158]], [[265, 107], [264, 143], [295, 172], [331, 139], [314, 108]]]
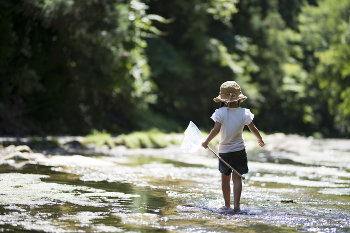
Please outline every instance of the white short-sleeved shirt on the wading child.
[[[228, 111], [227, 111], [228, 109]], [[245, 148], [242, 131], [244, 125], [248, 125], [254, 118], [254, 114], [247, 108], [227, 108], [216, 109], [211, 119], [221, 124], [221, 137], [219, 153], [229, 153], [241, 151]]]

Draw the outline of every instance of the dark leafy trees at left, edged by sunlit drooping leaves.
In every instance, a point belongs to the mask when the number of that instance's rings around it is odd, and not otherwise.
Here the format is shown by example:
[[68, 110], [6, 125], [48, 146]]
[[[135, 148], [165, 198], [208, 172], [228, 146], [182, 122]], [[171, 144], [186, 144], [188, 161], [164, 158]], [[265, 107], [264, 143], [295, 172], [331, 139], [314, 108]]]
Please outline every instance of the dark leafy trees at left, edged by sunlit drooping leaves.
[[[152, 21], [167, 21], [146, 14], [143, 2], [0, 4], [1, 133], [122, 131], [132, 124], [130, 107], [155, 103], [142, 38], [162, 34]], [[34, 119], [37, 127], [24, 130], [21, 119]]]

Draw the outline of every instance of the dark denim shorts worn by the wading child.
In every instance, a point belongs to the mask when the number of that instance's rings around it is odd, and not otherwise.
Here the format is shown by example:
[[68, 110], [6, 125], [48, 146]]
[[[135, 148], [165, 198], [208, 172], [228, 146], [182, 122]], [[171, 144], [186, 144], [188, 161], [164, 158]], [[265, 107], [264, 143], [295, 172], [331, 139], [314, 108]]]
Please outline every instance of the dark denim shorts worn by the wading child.
[[[219, 153], [219, 156], [240, 175], [248, 173], [248, 159], [246, 157], [245, 149], [229, 153]], [[219, 160], [219, 171], [226, 176], [230, 175], [232, 172], [232, 170], [221, 160]]]

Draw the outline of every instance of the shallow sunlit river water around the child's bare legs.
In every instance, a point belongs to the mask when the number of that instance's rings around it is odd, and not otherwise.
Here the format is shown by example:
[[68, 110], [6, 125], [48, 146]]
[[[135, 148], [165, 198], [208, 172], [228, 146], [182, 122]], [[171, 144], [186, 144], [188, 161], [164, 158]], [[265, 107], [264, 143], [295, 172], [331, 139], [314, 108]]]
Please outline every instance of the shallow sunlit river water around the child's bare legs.
[[241, 211], [223, 208], [217, 158], [203, 148], [2, 160], [0, 232], [350, 232], [350, 140], [265, 143], [247, 142]]

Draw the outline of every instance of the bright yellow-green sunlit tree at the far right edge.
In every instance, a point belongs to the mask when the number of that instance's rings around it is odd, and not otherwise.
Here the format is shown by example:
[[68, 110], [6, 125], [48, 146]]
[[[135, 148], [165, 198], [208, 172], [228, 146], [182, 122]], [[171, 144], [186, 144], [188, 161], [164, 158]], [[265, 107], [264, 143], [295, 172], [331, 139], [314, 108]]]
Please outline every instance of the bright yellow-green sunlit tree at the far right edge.
[[[313, 79], [320, 89], [317, 98], [325, 102], [339, 133], [350, 132], [350, 1], [334, 4], [318, 0], [317, 6], [305, 5], [299, 15], [299, 30], [305, 49], [313, 53]], [[307, 63], [306, 63], [307, 64]], [[312, 111], [315, 115], [318, 106]]]

